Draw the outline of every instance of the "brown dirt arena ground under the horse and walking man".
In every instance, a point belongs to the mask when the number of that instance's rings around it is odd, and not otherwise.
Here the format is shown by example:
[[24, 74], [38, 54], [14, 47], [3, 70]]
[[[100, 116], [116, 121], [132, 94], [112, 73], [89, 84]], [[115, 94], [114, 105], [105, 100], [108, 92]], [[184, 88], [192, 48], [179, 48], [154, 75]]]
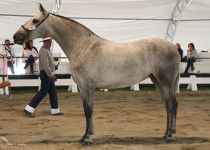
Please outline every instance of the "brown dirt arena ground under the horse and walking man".
[[[165, 144], [166, 113], [157, 91], [97, 92], [93, 146], [78, 143], [85, 119], [79, 94], [59, 92], [64, 116], [49, 115], [45, 98], [35, 118], [23, 115], [31, 94], [0, 95], [2, 150], [209, 150], [210, 91], [181, 92], [175, 144]], [[5, 143], [4, 139], [8, 140]]]

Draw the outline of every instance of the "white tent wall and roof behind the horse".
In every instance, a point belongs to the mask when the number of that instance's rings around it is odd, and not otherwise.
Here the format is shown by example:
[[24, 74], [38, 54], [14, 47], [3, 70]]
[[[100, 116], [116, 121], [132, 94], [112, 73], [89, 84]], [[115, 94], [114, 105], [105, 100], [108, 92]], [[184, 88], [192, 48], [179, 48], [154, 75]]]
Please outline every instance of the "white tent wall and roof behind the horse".
[[[56, 0], [39, 0], [52, 11]], [[0, 1], [0, 40], [14, 32], [38, 9], [36, 0]], [[210, 0], [61, 0], [60, 15], [71, 17], [97, 35], [116, 42], [160, 37], [210, 48]], [[55, 48], [58, 50], [58, 48]], [[60, 51], [60, 50], [59, 50]]]

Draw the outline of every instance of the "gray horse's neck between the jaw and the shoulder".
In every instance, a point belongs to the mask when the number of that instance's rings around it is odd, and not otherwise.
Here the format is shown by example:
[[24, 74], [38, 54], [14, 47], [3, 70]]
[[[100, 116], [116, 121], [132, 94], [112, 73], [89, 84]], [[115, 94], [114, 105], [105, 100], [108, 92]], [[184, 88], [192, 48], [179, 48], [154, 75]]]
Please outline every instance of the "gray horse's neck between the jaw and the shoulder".
[[52, 37], [70, 59], [80, 53], [84, 46], [88, 46], [87, 41], [90, 36], [95, 36], [90, 30], [74, 21], [58, 16], [51, 17]]

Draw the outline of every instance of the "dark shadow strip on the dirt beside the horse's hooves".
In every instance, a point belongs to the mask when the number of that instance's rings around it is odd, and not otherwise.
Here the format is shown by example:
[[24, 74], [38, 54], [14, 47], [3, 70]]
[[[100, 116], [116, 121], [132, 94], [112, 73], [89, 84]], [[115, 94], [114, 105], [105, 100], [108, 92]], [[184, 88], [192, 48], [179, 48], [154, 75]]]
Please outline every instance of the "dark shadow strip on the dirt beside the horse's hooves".
[[[57, 139], [57, 138], [55, 138]], [[60, 138], [61, 139], [61, 138]], [[174, 144], [195, 144], [207, 143], [210, 139], [202, 137], [177, 137]], [[28, 142], [27, 144], [77, 144], [78, 139], [71, 140], [54, 140], [43, 139], [39, 141]], [[94, 145], [116, 144], [116, 145], [160, 145], [165, 144], [163, 138], [160, 137], [100, 137], [94, 139]]]

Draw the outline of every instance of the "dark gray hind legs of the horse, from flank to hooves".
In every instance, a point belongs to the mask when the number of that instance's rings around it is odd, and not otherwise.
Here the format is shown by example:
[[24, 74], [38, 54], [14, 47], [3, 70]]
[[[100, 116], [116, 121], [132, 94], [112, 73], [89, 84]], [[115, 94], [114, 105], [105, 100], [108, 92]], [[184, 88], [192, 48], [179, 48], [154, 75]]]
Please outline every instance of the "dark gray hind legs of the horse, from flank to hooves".
[[160, 79], [158, 80], [153, 75], [151, 75], [150, 78], [156, 85], [156, 87], [160, 90], [161, 96], [165, 100], [167, 111], [167, 125], [164, 138], [167, 143], [171, 143], [174, 141], [174, 135], [176, 133], [176, 110], [178, 103], [175, 97], [175, 90], [174, 87], [169, 84], [170, 82], [167, 82], [169, 81], [167, 80], [167, 78], [164, 78], [166, 79], [164, 81], [161, 81]]

